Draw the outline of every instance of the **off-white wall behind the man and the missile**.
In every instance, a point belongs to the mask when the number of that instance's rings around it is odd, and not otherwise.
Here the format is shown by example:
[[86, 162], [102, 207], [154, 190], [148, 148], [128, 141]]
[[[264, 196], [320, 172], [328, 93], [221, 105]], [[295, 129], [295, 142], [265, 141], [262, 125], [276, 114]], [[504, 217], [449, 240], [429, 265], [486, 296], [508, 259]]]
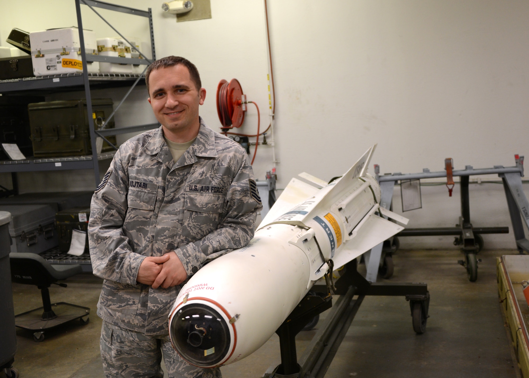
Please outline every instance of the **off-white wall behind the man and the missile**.
[[[238, 78], [267, 119], [267, 50], [263, 2], [212, 0], [212, 19], [180, 22], [153, 0], [114, 0], [152, 7], [157, 57], [193, 61], [207, 89], [201, 114], [220, 127], [215, 91], [220, 79]], [[76, 23], [72, 0], [0, 0], [0, 41], [11, 28], [42, 30]], [[514, 165], [529, 144], [529, 3], [522, 1], [329, 1], [269, 0], [276, 84], [275, 164], [278, 187], [299, 172], [323, 179], [340, 175], [373, 143], [372, 163], [381, 172]], [[115, 35], [83, 6], [85, 28], [98, 37]], [[33, 10], [33, 11], [30, 11]], [[32, 13], [34, 12], [34, 13]], [[124, 34], [147, 37], [140, 17], [101, 11]], [[150, 120], [144, 88], [116, 115], [118, 126]], [[120, 90], [108, 91], [118, 101]], [[137, 108], [137, 106], [140, 106]], [[141, 122], [143, 123], [143, 122]], [[148, 122], [144, 122], [148, 123]], [[250, 107], [241, 132], [254, 133]], [[526, 154], [529, 156], [529, 154]], [[254, 170], [263, 178], [270, 147], [259, 147]], [[91, 172], [21, 174], [24, 190], [93, 187]], [[43, 178], [44, 177], [44, 178]], [[490, 177], [494, 178], [494, 177]], [[8, 182], [6, 175], [0, 183]], [[457, 188], [456, 188], [457, 190]], [[501, 185], [471, 185], [476, 226], [509, 225]], [[459, 216], [458, 192], [425, 187], [422, 210], [407, 212], [411, 227], [452, 226]], [[529, 191], [526, 191], [529, 195]], [[395, 208], [400, 203], [395, 194]], [[407, 238], [404, 247], [451, 246], [451, 238]], [[513, 248], [510, 235], [487, 236], [487, 246]]]

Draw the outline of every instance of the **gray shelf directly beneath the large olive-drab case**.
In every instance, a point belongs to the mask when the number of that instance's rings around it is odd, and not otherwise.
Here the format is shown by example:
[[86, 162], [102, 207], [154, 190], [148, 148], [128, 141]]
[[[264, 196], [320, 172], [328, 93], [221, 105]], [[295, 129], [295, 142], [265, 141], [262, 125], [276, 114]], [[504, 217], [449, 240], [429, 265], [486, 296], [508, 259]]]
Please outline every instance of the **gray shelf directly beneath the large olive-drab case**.
[[[112, 159], [115, 151], [97, 155], [97, 160]], [[93, 169], [92, 155], [56, 158], [28, 158], [24, 160], [0, 160], [0, 173], [34, 172], [35, 170]]]

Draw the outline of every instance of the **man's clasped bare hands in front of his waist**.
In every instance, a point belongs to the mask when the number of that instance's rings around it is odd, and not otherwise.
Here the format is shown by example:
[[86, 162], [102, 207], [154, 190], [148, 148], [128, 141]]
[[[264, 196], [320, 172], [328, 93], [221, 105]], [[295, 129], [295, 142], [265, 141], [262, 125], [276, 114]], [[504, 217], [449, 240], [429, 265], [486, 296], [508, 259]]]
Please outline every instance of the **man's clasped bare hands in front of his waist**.
[[170, 251], [163, 256], [145, 257], [141, 262], [136, 281], [151, 285], [153, 289], [158, 289], [159, 286], [167, 289], [181, 284], [186, 278], [184, 264], [174, 251]]

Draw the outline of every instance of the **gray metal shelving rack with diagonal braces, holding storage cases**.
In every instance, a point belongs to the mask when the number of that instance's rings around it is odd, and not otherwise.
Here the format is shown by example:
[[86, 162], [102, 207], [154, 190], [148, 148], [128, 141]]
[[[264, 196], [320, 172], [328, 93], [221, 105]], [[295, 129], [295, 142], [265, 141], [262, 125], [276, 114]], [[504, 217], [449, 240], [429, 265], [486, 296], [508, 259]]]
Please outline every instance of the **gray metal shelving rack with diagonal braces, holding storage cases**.
[[[152, 60], [147, 59], [141, 52], [140, 58], [122, 58], [122, 57], [106, 57], [99, 55], [86, 55], [84, 35], [83, 35], [83, 19], [81, 16], [81, 4], [88, 6], [94, 11], [103, 21], [105, 21], [117, 34], [119, 34], [125, 41], [123, 35], [118, 32], [104, 17], [99, 14], [95, 8], [104, 8], [107, 10], [133, 14], [136, 16], [146, 17], [149, 20], [150, 41]], [[129, 91], [125, 94], [122, 101], [115, 107], [114, 111], [105, 120], [105, 124], [114, 116], [116, 110], [123, 104], [127, 96], [132, 92], [134, 87], [140, 82], [145, 70], [140, 75], [134, 74], [98, 74], [88, 73], [87, 62], [110, 62], [121, 64], [135, 64], [148, 66], [156, 59], [154, 50], [154, 34], [152, 28], [152, 12], [151, 8], [147, 11], [138, 10], [126, 6], [114, 5], [101, 1], [94, 0], [75, 0], [77, 11], [77, 26], [79, 30], [80, 55], [83, 61], [83, 73], [76, 74], [62, 74], [50, 75], [41, 77], [28, 77], [22, 79], [0, 80], [0, 93], [27, 93], [27, 92], [66, 92], [66, 91], [85, 91], [86, 105], [88, 114], [92, 114], [92, 96], [90, 95], [90, 86], [94, 89], [108, 88], [108, 87], [123, 87], [131, 85]], [[128, 41], [127, 41], [128, 42]], [[130, 43], [129, 43], [130, 44]], [[138, 132], [150, 130], [158, 127], [158, 123], [135, 125], [130, 127], [123, 127], [117, 129], [101, 129], [96, 130], [94, 127], [94, 120], [88, 117], [88, 124], [90, 130], [90, 142], [92, 144], [92, 155], [87, 156], [72, 156], [61, 158], [28, 158], [24, 160], [3, 160], [0, 161], [0, 173], [11, 172], [13, 178], [13, 191], [17, 192], [16, 172], [34, 172], [34, 171], [48, 171], [48, 170], [65, 170], [65, 169], [93, 169], [96, 186], [99, 184], [99, 160], [109, 159], [114, 156], [114, 152], [107, 152], [105, 154], [97, 154], [96, 137], [101, 137], [106, 140], [106, 136], [123, 134], [129, 132]], [[108, 142], [108, 140], [106, 140]], [[110, 143], [111, 146], [112, 143]], [[113, 146], [117, 150], [116, 146]]]

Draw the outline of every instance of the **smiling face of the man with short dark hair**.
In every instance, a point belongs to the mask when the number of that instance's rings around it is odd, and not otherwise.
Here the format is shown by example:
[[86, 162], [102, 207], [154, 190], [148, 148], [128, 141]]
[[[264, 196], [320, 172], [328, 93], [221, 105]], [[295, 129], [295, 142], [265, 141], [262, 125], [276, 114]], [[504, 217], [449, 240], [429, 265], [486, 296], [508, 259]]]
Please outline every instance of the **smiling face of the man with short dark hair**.
[[197, 136], [198, 106], [204, 104], [206, 89], [197, 89], [186, 66], [153, 70], [149, 76], [149, 96], [154, 116], [162, 124], [167, 139], [185, 143]]

